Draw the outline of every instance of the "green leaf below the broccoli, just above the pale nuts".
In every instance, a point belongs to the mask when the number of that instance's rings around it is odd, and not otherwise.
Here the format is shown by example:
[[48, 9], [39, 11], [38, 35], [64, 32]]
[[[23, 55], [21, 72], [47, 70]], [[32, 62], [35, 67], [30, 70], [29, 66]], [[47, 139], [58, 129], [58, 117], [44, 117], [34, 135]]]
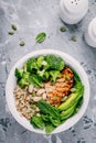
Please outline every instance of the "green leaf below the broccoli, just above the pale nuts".
[[32, 75], [32, 76], [30, 76], [30, 82], [31, 82], [34, 87], [41, 87], [41, 86], [42, 86], [42, 79], [41, 79], [41, 77], [39, 77], [38, 75]]

